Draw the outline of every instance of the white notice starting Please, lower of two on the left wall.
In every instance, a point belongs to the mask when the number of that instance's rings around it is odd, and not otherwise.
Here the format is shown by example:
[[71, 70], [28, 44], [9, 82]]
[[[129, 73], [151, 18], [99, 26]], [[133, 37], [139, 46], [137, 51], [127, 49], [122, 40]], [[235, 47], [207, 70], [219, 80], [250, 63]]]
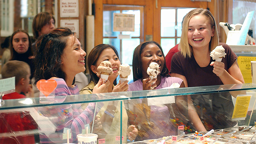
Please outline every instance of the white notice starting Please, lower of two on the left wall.
[[60, 20], [60, 27], [66, 27], [79, 36], [79, 20]]

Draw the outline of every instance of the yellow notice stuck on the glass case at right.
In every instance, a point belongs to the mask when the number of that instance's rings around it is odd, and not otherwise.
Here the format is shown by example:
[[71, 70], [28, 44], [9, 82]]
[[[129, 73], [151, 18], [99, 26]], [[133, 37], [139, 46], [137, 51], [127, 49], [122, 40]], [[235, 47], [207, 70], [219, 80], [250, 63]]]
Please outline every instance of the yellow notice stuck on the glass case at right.
[[232, 120], [244, 120], [249, 107], [252, 95], [238, 95], [236, 97], [236, 105], [232, 115]]

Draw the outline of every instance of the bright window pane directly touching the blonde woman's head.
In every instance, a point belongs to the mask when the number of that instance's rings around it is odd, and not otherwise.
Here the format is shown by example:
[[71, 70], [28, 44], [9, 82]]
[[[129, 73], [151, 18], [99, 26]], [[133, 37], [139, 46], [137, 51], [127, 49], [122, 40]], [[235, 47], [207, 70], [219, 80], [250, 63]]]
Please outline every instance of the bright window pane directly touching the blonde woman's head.
[[[182, 20], [183, 17], [191, 10], [193, 10], [195, 8], [180, 8], [177, 9], [177, 36], [181, 36], [181, 28], [182, 28]], [[178, 44], [178, 43], [177, 43]]]

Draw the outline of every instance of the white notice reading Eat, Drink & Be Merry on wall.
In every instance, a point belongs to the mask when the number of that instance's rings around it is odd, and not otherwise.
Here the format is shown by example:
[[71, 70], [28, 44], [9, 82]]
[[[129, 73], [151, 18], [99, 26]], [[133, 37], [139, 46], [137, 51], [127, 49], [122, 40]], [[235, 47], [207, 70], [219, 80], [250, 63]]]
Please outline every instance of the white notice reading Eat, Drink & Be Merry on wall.
[[60, 17], [78, 17], [78, 0], [61, 0], [60, 1]]

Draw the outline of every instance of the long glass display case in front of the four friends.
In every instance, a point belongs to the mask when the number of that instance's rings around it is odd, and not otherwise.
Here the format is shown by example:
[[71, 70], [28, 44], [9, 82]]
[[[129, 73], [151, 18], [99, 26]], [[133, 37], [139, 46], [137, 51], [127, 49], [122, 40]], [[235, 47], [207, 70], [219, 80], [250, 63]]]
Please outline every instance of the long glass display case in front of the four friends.
[[[72, 95], [54, 101], [3, 100], [0, 143], [67, 143], [68, 135], [70, 142], [78, 143], [76, 135], [86, 133], [86, 127], [98, 134], [98, 143], [143, 143], [200, 131], [195, 118], [206, 131], [243, 129], [254, 124], [255, 93], [256, 84], [230, 84]], [[246, 118], [234, 120], [236, 98], [245, 95], [251, 96]], [[138, 130], [135, 140], [129, 140], [131, 129]]]

